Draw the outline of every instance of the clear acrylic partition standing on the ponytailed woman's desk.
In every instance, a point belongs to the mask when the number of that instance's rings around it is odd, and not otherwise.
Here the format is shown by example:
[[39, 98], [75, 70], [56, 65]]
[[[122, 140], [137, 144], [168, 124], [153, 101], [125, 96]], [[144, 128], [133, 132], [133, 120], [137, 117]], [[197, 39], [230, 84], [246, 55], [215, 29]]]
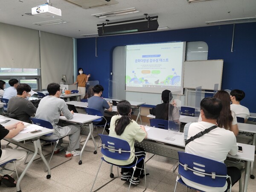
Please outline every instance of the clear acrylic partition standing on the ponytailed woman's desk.
[[[175, 113], [180, 113], [179, 111], [179, 101], [181, 101], [181, 91], [172, 92], [169, 94], [169, 121], [168, 121], [168, 136], [165, 138], [166, 140], [175, 140], [175, 135], [182, 134], [180, 133], [180, 122], [173, 121], [173, 117], [175, 117]], [[176, 107], [172, 105], [176, 104]]]

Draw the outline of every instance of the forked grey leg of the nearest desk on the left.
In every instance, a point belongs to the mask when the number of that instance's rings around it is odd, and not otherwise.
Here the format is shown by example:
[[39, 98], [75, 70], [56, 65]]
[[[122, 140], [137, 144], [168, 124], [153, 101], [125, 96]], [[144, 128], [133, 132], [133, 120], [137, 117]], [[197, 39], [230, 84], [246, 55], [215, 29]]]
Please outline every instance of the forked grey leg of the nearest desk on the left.
[[38, 154], [38, 150], [39, 150], [39, 154], [40, 154], [42, 160], [44, 161], [44, 164], [47, 166], [47, 169], [48, 169], [47, 179], [49, 179], [51, 177], [51, 169], [49, 167], [49, 164], [47, 163], [47, 160], [45, 159], [45, 157], [44, 157], [44, 155], [42, 153], [42, 148], [41, 148], [40, 140], [39, 139], [35, 140], [35, 141], [33, 141], [33, 143], [34, 143], [34, 147], [35, 147], [35, 152], [34, 152], [32, 158], [29, 160], [26, 168], [23, 170], [23, 172], [21, 173], [21, 175], [20, 175], [20, 177], [19, 177], [19, 179], [17, 181], [17, 184], [16, 184], [17, 192], [20, 191], [20, 182], [23, 179], [24, 175], [26, 174], [27, 170], [29, 169], [31, 163], [34, 161], [35, 156]]

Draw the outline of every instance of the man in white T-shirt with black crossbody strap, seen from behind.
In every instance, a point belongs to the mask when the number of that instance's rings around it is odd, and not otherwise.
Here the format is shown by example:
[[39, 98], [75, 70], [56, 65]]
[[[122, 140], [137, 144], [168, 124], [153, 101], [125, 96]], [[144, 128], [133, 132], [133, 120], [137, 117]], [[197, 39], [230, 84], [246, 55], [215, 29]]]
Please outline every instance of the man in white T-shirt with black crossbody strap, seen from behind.
[[[201, 103], [201, 122], [194, 122], [189, 126], [188, 139], [194, 137], [201, 131], [217, 125], [217, 119], [220, 116], [222, 104], [221, 100], [213, 97], [204, 98]], [[202, 147], [203, 146], [203, 147]], [[227, 154], [236, 155], [238, 146], [236, 136], [224, 128], [217, 127], [202, 137], [189, 142], [185, 147], [185, 152], [195, 154], [208, 159], [224, 162]], [[227, 175], [231, 177], [232, 186], [240, 179], [241, 172], [236, 167], [227, 167]], [[207, 192], [224, 192], [230, 187], [230, 180], [224, 187], [209, 187], [194, 183], [182, 177], [184, 183]]]

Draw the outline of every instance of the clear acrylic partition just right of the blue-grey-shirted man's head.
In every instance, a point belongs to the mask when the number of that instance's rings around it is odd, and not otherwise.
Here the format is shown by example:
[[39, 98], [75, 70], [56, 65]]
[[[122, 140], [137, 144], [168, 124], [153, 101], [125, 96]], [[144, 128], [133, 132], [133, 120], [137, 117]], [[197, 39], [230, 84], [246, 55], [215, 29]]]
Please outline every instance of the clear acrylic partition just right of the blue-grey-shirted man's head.
[[108, 88], [108, 98], [116, 100], [125, 100], [125, 88], [122, 86], [120, 81], [110, 80]]

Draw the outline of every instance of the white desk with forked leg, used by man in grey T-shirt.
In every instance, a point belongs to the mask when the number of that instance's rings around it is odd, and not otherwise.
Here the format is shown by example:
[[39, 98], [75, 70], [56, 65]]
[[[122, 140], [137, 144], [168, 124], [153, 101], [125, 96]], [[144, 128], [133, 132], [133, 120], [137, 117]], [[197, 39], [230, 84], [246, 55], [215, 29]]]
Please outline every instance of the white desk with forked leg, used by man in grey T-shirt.
[[85, 140], [85, 143], [84, 143], [83, 148], [82, 148], [81, 153], [80, 153], [79, 165], [82, 164], [82, 153], [83, 153], [84, 148], [85, 148], [88, 140], [90, 139], [90, 137], [92, 138], [93, 144], [94, 144], [94, 147], [95, 147], [94, 154], [97, 153], [97, 145], [96, 145], [96, 142], [95, 142], [93, 134], [92, 134], [93, 133], [93, 123], [92, 123], [92, 121], [96, 120], [96, 119], [99, 119], [99, 118], [101, 118], [101, 116], [87, 115], [87, 114], [82, 114], [82, 113], [75, 113], [74, 116], [73, 116], [73, 119], [67, 119], [64, 116], [60, 116], [60, 120], [62, 120], [62, 121], [71, 122], [71, 123], [75, 123], [75, 124], [78, 124], [78, 125], [84, 125], [85, 123], [89, 124], [89, 134], [88, 134], [88, 136]]

